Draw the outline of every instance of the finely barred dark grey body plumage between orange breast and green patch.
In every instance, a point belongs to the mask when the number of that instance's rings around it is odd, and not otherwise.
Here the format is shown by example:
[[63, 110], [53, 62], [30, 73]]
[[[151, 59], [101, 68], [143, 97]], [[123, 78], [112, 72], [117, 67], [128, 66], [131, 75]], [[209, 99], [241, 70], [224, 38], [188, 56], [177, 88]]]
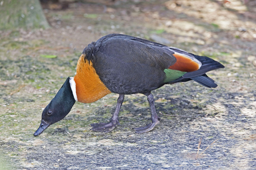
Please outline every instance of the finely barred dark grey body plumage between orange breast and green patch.
[[[176, 63], [174, 52], [134, 38], [118, 35], [95, 42], [90, 58], [111, 92], [132, 94], [155, 90], [165, 84], [164, 69]], [[88, 47], [85, 53], [89, 54], [92, 49]]]

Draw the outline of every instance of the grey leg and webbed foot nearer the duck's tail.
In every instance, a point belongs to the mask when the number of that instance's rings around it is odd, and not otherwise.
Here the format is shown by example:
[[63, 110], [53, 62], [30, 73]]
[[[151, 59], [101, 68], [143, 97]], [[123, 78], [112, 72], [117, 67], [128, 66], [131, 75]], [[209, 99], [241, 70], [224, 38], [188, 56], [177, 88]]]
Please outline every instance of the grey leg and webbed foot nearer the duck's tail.
[[157, 123], [159, 123], [159, 118], [156, 114], [156, 108], [155, 108], [155, 102], [154, 102], [154, 96], [151, 92], [144, 93], [148, 97], [148, 102], [151, 109], [151, 123], [149, 123], [145, 127], [140, 128], [134, 128], [136, 133], [145, 133], [149, 132], [150, 130], [154, 129]]

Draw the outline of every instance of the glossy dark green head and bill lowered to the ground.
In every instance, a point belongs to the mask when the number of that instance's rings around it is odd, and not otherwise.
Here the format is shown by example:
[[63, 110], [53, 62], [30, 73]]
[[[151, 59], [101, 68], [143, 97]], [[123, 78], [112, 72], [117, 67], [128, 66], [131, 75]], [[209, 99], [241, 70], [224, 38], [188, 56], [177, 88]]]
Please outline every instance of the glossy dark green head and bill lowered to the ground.
[[34, 136], [40, 135], [51, 124], [59, 122], [68, 115], [75, 102], [76, 100], [69, 84], [69, 78], [67, 78], [59, 92], [57, 92], [52, 101], [44, 108], [41, 124], [34, 133]]

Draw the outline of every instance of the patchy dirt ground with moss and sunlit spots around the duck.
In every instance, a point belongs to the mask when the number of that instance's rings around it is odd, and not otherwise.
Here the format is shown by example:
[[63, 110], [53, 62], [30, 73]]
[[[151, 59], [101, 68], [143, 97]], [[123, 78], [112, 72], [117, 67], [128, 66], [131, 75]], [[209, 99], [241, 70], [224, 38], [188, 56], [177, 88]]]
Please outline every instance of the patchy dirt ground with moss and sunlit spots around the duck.
[[[255, 1], [88, 0], [44, 8], [52, 28], [0, 31], [0, 169], [256, 169]], [[110, 120], [112, 93], [76, 102], [34, 137], [42, 109], [75, 75], [82, 50], [109, 33], [206, 55], [226, 68], [208, 74], [215, 89], [190, 81], [152, 92], [161, 122], [151, 132], [132, 129], [150, 122], [141, 94], [125, 96], [112, 132], [90, 131], [91, 123]]]

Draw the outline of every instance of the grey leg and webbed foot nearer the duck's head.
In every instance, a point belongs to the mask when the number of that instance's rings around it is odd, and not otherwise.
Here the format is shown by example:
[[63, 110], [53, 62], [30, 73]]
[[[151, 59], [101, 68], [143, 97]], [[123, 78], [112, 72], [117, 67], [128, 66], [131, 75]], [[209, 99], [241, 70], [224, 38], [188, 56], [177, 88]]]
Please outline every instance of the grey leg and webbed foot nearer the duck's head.
[[107, 133], [107, 132], [110, 132], [111, 130], [115, 129], [116, 125], [120, 125], [120, 123], [118, 121], [118, 114], [119, 114], [120, 108], [123, 104], [123, 101], [124, 101], [124, 94], [119, 94], [119, 97], [117, 99], [117, 104], [116, 104], [116, 110], [111, 117], [111, 121], [109, 123], [92, 123], [91, 130]]

